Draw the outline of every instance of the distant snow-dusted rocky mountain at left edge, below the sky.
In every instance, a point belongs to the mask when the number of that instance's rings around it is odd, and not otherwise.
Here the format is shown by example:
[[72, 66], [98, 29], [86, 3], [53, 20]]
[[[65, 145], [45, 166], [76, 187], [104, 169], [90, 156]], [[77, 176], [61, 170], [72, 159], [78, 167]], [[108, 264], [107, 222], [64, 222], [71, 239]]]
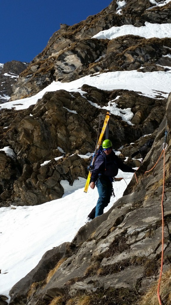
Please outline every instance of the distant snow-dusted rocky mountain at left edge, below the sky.
[[0, 103], [9, 101], [12, 94], [12, 85], [14, 85], [19, 74], [26, 69], [28, 63], [12, 60], [5, 64], [0, 64]]

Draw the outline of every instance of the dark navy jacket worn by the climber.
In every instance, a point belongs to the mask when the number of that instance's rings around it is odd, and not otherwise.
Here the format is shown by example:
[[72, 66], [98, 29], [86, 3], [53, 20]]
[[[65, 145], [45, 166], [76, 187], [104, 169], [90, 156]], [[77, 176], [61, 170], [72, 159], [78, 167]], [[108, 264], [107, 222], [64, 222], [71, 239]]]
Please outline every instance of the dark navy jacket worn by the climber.
[[110, 181], [113, 180], [118, 173], [118, 169], [123, 172], [134, 173], [135, 170], [124, 164], [115, 153], [112, 152], [110, 155], [106, 156], [104, 150], [97, 157], [94, 163], [94, 169], [92, 170], [91, 182], [96, 182], [99, 176], [103, 176], [104, 178], [109, 178]]

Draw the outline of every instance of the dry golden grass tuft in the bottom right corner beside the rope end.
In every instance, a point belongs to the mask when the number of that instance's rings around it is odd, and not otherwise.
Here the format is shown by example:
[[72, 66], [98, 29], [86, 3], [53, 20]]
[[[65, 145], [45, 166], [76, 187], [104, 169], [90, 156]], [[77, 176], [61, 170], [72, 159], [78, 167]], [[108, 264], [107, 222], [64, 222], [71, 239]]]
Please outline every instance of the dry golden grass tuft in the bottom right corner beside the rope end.
[[[138, 305], [157, 305], [159, 304], [157, 296], [158, 282], [156, 282], [151, 289], [141, 297]], [[171, 304], [171, 270], [162, 274], [160, 282], [160, 297], [165, 305]]]

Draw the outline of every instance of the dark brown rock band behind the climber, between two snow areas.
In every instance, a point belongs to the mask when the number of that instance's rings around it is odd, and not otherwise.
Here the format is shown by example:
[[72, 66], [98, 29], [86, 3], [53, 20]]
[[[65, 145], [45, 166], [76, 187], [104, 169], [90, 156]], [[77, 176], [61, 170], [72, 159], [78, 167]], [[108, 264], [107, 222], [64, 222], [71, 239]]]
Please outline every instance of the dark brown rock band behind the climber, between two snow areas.
[[[37, 205], [61, 198], [61, 180], [72, 185], [79, 176], [87, 177], [90, 160], [79, 155], [93, 151], [100, 113], [103, 118], [106, 114], [89, 100], [107, 106], [120, 96], [116, 100], [118, 107], [131, 108], [134, 125], [110, 117], [110, 138], [115, 148], [126, 145], [124, 156], [131, 156], [148, 140], [141, 138], [144, 134], [154, 133], [155, 137], [165, 114], [166, 99], [155, 100], [131, 91], [103, 91], [88, 85], [82, 89], [87, 92], [86, 99], [78, 92], [59, 90], [47, 92], [28, 109], [1, 111], [1, 147], [14, 152], [12, 159], [0, 151], [1, 206]], [[133, 140], [137, 142], [127, 147]], [[49, 163], [42, 165], [47, 160]], [[136, 160], [128, 163], [137, 166]]]

